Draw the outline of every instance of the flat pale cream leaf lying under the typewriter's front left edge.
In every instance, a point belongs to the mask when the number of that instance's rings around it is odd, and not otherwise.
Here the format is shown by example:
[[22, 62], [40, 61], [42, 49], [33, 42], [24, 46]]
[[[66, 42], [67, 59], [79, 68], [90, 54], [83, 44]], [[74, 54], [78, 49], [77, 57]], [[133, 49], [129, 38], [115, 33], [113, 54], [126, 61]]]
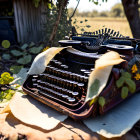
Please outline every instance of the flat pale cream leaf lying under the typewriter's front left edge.
[[[55, 128], [67, 118], [66, 115], [19, 92], [14, 95], [9, 107], [12, 114], [20, 121], [46, 130]], [[4, 112], [7, 110], [3, 110], [2, 113]]]

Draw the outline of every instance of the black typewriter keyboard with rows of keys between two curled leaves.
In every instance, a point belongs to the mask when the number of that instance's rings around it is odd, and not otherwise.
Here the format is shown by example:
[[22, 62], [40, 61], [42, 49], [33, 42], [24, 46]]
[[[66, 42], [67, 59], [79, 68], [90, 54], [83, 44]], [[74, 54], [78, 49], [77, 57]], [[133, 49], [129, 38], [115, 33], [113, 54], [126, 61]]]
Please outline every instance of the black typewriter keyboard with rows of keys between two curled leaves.
[[79, 108], [84, 103], [95, 60], [95, 57], [63, 50], [49, 62], [43, 73], [32, 76], [33, 88], [67, 108]]

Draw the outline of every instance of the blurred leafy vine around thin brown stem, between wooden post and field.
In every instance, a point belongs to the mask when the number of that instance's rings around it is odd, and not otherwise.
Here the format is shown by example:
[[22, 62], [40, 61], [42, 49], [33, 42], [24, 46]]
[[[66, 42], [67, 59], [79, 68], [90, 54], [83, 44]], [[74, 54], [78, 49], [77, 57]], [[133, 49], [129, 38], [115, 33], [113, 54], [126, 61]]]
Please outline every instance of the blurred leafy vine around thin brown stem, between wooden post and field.
[[[56, 4], [56, 6], [52, 6], [52, 9], [48, 9], [46, 12], [47, 24], [44, 25], [44, 27], [45, 27], [44, 32], [46, 35], [45, 41], [49, 40], [49, 38], [50, 38], [54, 23], [57, 19], [57, 15], [58, 15], [58, 4]], [[58, 40], [62, 40], [62, 39], [64, 39], [65, 36], [68, 36], [70, 34], [71, 30], [72, 30], [71, 21], [68, 19], [67, 8], [65, 8], [62, 12], [62, 16], [60, 19], [60, 23], [58, 25], [57, 33], [56, 33], [55, 39], [53, 40], [52, 45], [58, 46], [59, 45]]]

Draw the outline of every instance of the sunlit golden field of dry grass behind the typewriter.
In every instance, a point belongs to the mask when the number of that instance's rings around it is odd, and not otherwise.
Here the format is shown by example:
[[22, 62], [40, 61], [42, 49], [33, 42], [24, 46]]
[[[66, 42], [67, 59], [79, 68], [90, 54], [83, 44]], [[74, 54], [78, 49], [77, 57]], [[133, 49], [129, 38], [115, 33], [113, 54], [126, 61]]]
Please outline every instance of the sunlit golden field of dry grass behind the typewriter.
[[[125, 18], [110, 18], [110, 17], [96, 17], [96, 18], [89, 18], [89, 17], [74, 17], [74, 20], [77, 20], [76, 24], [73, 24], [77, 29], [78, 33], [82, 33], [81, 29], [84, 28], [87, 32], [94, 32], [98, 29], [102, 28], [110, 28], [115, 31], [119, 31], [120, 34], [123, 36], [129, 36], [132, 37], [132, 33], [129, 27], [129, 24], [127, 22], [127, 19]], [[85, 19], [88, 21], [85, 22]], [[80, 23], [80, 21], [83, 21], [83, 23]], [[86, 26], [90, 25], [90, 28], [87, 28]]]

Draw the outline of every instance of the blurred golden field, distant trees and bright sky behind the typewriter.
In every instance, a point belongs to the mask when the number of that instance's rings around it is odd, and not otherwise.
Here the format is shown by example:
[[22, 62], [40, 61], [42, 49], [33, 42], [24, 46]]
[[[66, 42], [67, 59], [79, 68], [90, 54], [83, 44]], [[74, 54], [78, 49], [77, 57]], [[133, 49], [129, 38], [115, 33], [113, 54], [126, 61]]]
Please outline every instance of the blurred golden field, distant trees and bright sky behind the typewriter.
[[[70, 0], [68, 5], [69, 16], [72, 15], [76, 4], [76, 0]], [[96, 31], [102, 28], [111, 28], [124, 36], [132, 37], [121, 0], [108, 0], [98, 5], [87, 0], [80, 0], [73, 17], [73, 25], [78, 33], [84, 30]]]

